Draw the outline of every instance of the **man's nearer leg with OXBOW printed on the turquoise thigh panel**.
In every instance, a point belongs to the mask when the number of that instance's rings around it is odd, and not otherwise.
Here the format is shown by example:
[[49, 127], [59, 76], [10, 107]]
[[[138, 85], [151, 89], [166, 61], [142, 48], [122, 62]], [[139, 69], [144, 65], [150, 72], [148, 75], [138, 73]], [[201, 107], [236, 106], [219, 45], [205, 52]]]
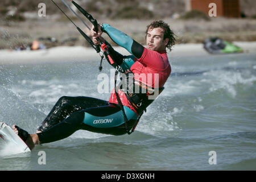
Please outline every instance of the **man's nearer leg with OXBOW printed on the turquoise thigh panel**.
[[[94, 124], [92, 124], [94, 121], [92, 118], [85, 118], [86, 114], [90, 114], [93, 118], [95, 117], [96, 119], [102, 119], [102, 117], [112, 117], [115, 119], [115, 125], [113, 125], [113, 123], [108, 123], [107, 125], [96, 127]], [[128, 129], [130, 130], [137, 121], [137, 115], [133, 111], [130, 111], [128, 118], [130, 118], [128, 121]], [[36, 144], [55, 142], [57, 140], [67, 138], [75, 133], [75, 131], [80, 129], [102, 134], [126, 134], [126, 126], [123, 121], [122, 111], [120, 107], [115, 104], [92, 107], [89, 109], [77, 111], [64, 119], [63, 122], [57, 123], [51, 128], [37, 134], [28, 134], [27, 131], [20, 129], [15, 125], [13, 126], [13, 130], [20, 136], [20, 138], [24, 138], [24, 136], [22, 136], [23, 133], [28, 135], [25, 142], [31, 150], [35, 147]]]

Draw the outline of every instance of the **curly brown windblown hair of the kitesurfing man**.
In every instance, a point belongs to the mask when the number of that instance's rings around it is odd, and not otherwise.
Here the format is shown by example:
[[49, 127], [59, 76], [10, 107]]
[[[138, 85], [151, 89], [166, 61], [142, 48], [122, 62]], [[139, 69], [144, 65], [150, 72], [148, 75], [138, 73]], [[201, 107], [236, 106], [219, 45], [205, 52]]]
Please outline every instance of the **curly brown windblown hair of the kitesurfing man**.
[[147, 31], [149, 28], [158, 28], [161, 27], [164, 30], [164, 39], [168, 38], [169, 42], [166, 45], [166, 48], [169, 49], [170, 51], [172, 50], [172, 46], [174, 46], [175, 44], [175, 34], [174, 32], [171, 30], [171, 28], [168, 26], [167, 23], [165, 23], [163, 20], [155, 20], [154, 22], [150, 23], [147, 26], [147, 30], [146, 30], [146, 37], [147, 37]]

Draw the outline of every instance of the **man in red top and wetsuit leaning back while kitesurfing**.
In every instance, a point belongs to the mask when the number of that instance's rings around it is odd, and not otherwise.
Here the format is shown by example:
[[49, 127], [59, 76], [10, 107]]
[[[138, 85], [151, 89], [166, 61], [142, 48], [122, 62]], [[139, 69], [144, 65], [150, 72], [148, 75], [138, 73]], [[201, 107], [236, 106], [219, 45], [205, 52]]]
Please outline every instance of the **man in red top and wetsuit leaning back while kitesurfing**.
[[[123, 80], [129, 80], [128, 78], [133, 76], [133, 84], [128, 83], [127, 90], [122, 85], [113, 89], [109, 101], [91, 97], [61, 97], [35, 134], [28, 134], [13, 125], [13, 130], [30, 149], [36, 144], [67, 138], [77, 130], [112, 135], [126, 134], [137, 125], [138, 117], [154, 101], [149, 97], [162, 92], [171, 73], [167, 50], [171, 51], [175, 44], [174, 33], [167, 23], [159, 20], [147, 26], [146, 47], [109, 24], [98, 24], [98, 30], [98, 33], [94, 27], [91, 30], [95, 44], [99, 43], [97, 38], [101, 39], [102, 32], [105, 32], [118, 46], [131, 53], [130, 56], [122, 56], [114, 49], [109, 50], [113, 57], [118, 59], [116, 64], [119, 71], [122, 70]], [[143, 79], [141, 75], [151, 77]], [[130, 88], [130, 85], [133, 88]], [[138, 88], [139, 93], [130, 92], [134, 87]], [[121, 106], [125, 114], [122, 113]]]

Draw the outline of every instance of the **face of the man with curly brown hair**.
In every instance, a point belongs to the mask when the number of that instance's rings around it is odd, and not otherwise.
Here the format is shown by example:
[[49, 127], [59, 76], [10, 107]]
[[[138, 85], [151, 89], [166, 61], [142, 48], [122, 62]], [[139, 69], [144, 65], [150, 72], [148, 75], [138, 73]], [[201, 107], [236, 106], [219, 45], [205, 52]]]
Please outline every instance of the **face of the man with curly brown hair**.
[[147, 48], [153, 51], [163, 51], [166, 49], [166, 45], [169, 41], [168, 38], [164, 38], [164, 30], [163, 28], [148, 28], [146, 43]]

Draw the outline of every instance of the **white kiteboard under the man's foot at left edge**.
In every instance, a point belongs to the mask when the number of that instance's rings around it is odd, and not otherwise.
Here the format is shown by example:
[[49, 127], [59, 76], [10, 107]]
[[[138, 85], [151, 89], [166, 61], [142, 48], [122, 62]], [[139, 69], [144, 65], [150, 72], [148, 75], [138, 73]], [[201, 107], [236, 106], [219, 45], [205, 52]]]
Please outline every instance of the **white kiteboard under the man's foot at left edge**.
[[6, 123], [0, 122], [0, 140], [11, 143], [16, 151], [30, 152], [27, 144]]

